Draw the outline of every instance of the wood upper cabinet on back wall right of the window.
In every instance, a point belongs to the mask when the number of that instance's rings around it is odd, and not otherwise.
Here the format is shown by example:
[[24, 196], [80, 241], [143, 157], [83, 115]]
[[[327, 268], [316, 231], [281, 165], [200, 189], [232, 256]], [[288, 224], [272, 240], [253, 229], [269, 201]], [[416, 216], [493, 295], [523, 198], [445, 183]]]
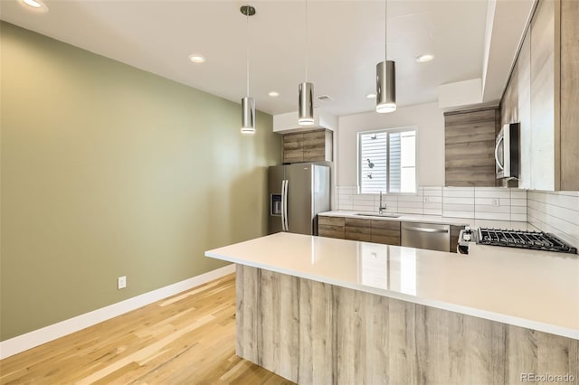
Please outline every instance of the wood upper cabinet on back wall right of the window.
[[444, 114], [446, 186], [496, 185], [495, 136], [498, 108], [479, 108]]

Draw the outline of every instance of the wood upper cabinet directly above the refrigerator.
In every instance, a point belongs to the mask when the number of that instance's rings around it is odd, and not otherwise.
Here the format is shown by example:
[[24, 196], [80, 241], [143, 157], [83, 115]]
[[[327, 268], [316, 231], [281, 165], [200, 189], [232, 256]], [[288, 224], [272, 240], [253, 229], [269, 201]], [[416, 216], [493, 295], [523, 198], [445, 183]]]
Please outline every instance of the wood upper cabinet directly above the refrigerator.
[[283, 135], [283, 162], [332, 161], [332, 131], [318, 129]]

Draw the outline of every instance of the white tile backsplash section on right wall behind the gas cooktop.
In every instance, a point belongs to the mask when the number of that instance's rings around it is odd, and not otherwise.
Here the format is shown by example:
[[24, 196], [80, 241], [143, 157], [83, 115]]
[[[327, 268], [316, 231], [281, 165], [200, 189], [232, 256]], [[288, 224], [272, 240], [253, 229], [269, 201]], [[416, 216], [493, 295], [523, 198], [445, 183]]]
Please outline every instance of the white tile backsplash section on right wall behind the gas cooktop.
[[579, 248], [579, 192], [527, 192], [527, 219]]

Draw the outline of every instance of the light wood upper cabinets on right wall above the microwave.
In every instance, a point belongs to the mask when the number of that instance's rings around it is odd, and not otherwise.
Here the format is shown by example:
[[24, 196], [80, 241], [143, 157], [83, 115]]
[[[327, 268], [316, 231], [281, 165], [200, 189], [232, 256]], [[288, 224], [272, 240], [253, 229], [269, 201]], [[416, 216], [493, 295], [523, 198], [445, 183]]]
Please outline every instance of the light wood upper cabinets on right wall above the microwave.
[[579, 190], [579, 2], [539, 0], [501, 100], [520, 123], [518, 187]]

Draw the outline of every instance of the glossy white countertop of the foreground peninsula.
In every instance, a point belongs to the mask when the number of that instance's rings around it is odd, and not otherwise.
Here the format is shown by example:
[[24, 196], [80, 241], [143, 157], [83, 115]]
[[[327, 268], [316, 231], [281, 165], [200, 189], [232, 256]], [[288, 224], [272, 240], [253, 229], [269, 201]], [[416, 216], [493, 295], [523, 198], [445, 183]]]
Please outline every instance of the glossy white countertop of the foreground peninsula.
[[577, 255], [469, 255], [280, 232], [205, 256], [579, 339]]

